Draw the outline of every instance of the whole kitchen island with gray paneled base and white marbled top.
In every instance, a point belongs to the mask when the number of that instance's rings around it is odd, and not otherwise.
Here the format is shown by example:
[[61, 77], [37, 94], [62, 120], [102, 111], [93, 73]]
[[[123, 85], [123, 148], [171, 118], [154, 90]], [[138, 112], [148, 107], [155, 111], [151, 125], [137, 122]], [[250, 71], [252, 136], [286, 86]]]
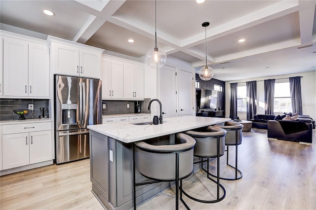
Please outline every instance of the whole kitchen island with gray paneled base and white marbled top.
[[[90, 129], [90, 177], [92, 192], [108, 210], [133, 208], [133, 142], [175, 134], [229, 121], [229, 118], [183, 116], [150, 122], [123, 122], [88, 126]], [[136, 169], [137, 170], [137, 169]], [[136, 171], [136, 182], [147, 180]], [[173, 182], [138, 186], [136, 203], [151, 198]]]

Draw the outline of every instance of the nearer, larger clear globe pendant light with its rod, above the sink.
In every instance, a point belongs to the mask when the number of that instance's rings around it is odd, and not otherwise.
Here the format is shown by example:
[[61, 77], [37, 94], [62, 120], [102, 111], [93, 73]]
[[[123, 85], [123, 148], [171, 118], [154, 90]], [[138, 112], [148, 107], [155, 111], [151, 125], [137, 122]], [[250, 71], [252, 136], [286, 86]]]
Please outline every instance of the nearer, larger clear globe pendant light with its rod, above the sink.
[[166, 53], [161, 49], [157, 47], [157, 5], [156, 5], [156, 0], [155, 0], [155, 40], [156, 40], [156, 45], [153, 48], [149, 49], [146, 53], [146, 62], [147, 64], [153, 68], [161, 68], [164, 66], [167, 60], [167, 55]]

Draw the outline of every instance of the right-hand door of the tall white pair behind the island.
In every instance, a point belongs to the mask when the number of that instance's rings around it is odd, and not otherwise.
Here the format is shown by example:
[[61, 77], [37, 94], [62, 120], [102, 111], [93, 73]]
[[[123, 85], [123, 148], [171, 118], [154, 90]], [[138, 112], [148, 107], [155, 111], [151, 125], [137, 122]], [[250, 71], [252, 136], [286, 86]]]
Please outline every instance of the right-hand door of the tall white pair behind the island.
[[179, 70], [177, 73], [177, 84], [179, 116], [191, 115], [194, 113], [192, 72]]

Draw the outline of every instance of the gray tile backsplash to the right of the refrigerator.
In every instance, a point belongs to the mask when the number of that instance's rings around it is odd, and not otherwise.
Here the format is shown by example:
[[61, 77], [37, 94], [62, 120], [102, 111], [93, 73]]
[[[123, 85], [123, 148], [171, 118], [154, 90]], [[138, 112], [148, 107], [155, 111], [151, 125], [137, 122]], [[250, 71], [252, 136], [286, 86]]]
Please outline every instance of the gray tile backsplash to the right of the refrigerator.
[[[106, 105], [106, 108], [102, 108], [102, 115], [108, 114], [132, 114], [138, 113], [137, 103], [140, 105], [141, 112], [140, 113], [151, 113], [148, 111], [148, 105], [150, 102], [150, 98], [144, 99], [144, 101], [110, 101], [103, 100], [102, 105]], [[129, 104], [129, 108], [127, 108], [127, 104]]]

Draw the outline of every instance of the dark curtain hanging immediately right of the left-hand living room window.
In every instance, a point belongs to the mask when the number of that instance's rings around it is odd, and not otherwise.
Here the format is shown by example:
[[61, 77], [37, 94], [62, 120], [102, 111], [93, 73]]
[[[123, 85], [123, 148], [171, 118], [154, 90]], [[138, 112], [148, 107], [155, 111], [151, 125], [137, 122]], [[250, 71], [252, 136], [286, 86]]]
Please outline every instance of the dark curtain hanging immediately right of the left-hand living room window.
[[247, 89], [247, 120], [257, 114], [257, 81], [246, 82]]

